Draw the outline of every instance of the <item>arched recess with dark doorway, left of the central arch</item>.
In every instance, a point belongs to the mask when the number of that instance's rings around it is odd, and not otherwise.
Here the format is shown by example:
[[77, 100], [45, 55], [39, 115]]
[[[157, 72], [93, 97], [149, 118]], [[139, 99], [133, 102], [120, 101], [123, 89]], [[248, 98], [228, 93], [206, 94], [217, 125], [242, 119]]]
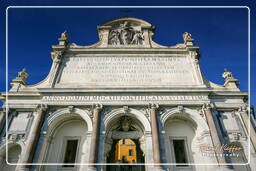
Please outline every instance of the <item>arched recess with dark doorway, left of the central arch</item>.
[[49, 130], [49, 145], [45, 163], [63, 163], [59, 166], [45, 166], [44, 170], [75, 171], [79, 166], [74, 163], [88, 159], [87, 124], [79, 116], [66, 118]]

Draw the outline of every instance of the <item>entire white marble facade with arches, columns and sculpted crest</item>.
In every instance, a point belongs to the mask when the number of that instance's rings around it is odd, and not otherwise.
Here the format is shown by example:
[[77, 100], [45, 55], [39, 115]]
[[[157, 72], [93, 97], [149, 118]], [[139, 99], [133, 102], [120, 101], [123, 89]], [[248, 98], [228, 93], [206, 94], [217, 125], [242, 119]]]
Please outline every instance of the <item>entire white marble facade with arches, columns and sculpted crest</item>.
[[[48, 76], [27, 85], [24, 69], [11, 82], [8, 105], [1, 94], [1, 171], [114, 170], [100, 163], [110, 163], [113, 145], [122, 138], [136, 141], [141, 151], [140, 164], [146, 165], [135, 170], [256, 169], [248, 93], [229, 71], [223, 85], [202, 76], [191, 34], [184, 33], [181, 44], [162, 46], [153, 41], [154, 26], [140, 19], [114, 19], [97, 28], [99, 42], [90, 46], [70, 43], [62, 33], [52, 46]], [[76, 165], [54, 164], [63, 163], [65, 143], [72, 139], [78, 140]], [[184, 140], [190, 164], [175, 164], [174, 140]], [[240, 147], [230, 153], [238, 156], [206, 148], [226, 144]]]

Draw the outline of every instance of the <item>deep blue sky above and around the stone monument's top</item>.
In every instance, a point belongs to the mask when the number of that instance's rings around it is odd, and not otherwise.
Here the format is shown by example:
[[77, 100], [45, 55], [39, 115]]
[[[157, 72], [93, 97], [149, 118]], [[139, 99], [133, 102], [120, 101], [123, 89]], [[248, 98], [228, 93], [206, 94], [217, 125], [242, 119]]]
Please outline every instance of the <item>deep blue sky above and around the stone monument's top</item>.
[[[9, 1], [1, 4], [0, 91], [5, 91], [5, 27], [4, 13], [9, 5], [248, 5], [251, 8], [251, 103], [255, 106], [255, 4], [247, 1], [173, 1], [150, 4], [116, 1], [114, 4], [81, 1]], [[114, 1], [113, 1], [114, 2]], [[183, 2], [182, 4], [180, 2]], [[219, 2], [219, 3], [216, 3]], [[200, 4], [201, 3], [201, 4]], [[117, 17], [140, 18], [156, 26], [155, 41], [162, 45], [182, 43], [182, 33], [190, 32], [202, 54], [200, 66], [210, 81], [223, 84], [224, 68], [239, 79], [241, 91], [248, 91], [248, 9], [246, 8], [131, 8], [124, 14], [120, 8], [80, 9], [9, 9], [9, 82], [23, 67], [27, 69], [28, 84], [44, 79], [51, 66], [51, 45], [57, 44], [61, 32], [67, 30], [70, 42], [89, 45], [98, 41], [97, 25]]]

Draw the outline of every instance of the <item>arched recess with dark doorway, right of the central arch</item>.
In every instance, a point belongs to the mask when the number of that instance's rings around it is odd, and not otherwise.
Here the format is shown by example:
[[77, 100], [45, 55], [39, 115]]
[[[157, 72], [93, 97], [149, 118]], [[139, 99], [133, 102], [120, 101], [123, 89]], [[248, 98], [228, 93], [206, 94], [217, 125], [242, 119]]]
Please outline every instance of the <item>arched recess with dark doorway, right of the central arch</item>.
[[192, 148], [197, 125], [189, 118], [173, 115], [165, 123], [165, 147], [171, 170], [193, 170], [189, 163], [194, 163]]

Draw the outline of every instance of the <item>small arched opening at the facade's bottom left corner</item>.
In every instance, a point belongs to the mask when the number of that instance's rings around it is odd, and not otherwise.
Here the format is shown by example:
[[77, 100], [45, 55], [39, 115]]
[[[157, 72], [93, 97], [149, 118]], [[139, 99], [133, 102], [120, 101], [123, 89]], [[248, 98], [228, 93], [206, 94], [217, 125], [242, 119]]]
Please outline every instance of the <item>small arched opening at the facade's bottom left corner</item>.
[[[18, 163], [19, 159], [20, 159], [20, 154], [21, 154], [21, 147], [18, 144], [12, 144], [12, 145], [8, 145], [8, 163]], [[17, 165], [9, 165], [6, 162], [6, 153], [5, 150], [2, 153], [2, 155], [0, 156], [0, 170], [4, 170], [4, 171], [15, 171]]]

